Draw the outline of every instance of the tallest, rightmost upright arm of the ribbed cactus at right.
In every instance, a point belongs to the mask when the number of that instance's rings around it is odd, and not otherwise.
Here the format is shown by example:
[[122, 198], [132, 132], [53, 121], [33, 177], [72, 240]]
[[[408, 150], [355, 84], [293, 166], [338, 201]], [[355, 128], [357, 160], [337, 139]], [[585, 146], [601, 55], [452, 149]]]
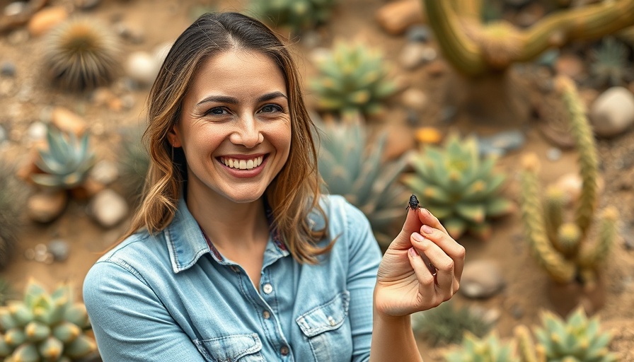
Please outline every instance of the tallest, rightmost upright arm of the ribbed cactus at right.
[[572, 126], [572, 136], [575, 138], [577, 153], [579, 153], [582, 188], [579, 203], [575, 209], [575, 223], [579, 226], [582, 235], [586, 235], [596, 207], [596, 178], [599, 174], [596, 144], [575, 83], [570, 78], [558, 76], [555, 79], [555, 86], [563, 98]]

